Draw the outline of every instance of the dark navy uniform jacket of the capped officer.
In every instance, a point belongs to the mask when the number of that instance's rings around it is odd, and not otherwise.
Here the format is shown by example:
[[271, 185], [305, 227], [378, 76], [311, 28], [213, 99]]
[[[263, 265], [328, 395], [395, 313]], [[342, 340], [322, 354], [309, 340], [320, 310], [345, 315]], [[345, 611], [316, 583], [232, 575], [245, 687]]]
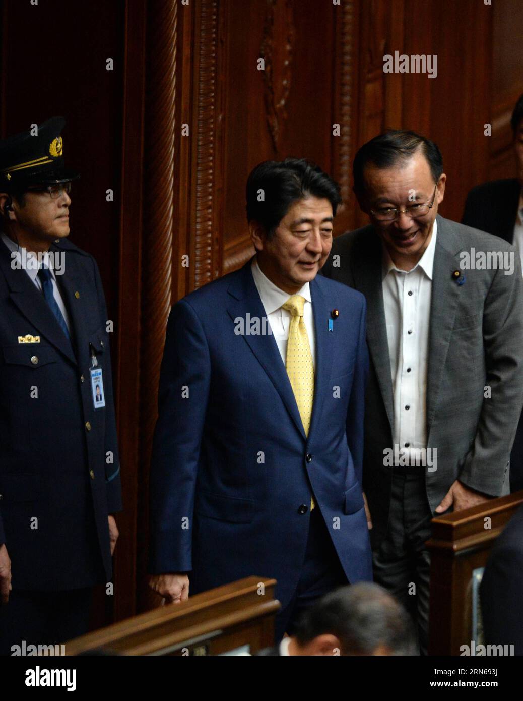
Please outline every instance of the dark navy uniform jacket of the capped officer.
[[[71, 342], [0, 240], [0, 544], [13, 590], [57, 591], [111, 579], [107, 517], [121, 509], [119, 457], [102, 281], [69, 240], [56, 275]], [[19, 336], [39, 336], [20, 343]], [[92, 353], [105, 407], [95, 409]], [[36, 392], [35, 392], [36, 388]]]

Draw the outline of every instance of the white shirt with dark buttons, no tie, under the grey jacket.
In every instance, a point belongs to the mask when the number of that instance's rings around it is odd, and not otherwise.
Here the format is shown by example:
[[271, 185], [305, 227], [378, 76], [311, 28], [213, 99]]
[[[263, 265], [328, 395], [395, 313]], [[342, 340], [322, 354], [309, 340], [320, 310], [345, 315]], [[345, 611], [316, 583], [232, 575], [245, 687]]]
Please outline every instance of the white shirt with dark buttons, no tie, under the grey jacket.
[[[393, 444], [398, 450], [426, 448], [428, 326], [438, 224], [411, 271], [400, 271], [383, 248], [383, 302], [394, 401]], [[415, 464], [415, 463], [410, 463]]]

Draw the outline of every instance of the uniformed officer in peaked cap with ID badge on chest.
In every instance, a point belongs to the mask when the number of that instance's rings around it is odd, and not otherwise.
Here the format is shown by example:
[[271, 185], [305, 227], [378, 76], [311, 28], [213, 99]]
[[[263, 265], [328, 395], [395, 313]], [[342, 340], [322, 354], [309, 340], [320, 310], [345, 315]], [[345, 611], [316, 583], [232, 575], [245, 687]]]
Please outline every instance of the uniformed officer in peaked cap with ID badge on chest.
[[92, 587], [111, 579], [118, 538], [107, 313], [95, 259], [67, 238], [79, 176], [64, 165], [64, 124], [0, 142], [4, 655], [87, 632]]

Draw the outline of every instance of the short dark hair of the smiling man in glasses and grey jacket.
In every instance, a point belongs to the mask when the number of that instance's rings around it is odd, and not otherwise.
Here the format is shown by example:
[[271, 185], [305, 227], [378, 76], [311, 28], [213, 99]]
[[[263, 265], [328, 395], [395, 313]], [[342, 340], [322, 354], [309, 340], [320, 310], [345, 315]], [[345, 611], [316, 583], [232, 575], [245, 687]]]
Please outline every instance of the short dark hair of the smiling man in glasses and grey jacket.
[[360, 193], [365, 190], [363, 173], [368, 163], [377, 168], [391, 168], [414, 156], [420, 148], [431, 168], [434, 182], [438, 182], [443, 172], [443, 158], [437, 144], [417, 132], [397, 129], [375, 136], [358, 150], [352, 166], [354, 191]]

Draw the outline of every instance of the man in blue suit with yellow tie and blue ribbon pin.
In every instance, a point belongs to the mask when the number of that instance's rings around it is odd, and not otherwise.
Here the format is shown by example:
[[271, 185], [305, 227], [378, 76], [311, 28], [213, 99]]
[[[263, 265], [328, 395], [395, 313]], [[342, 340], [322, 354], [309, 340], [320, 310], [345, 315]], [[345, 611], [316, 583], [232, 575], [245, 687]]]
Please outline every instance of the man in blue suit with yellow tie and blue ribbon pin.
[[150, 585], [168, 601], [277, 579], [276, 638], [372, 579], [361, 491], [363, 295], [316, 277], [337, 184], [304, 160], [246, 186], [256, 256], [174, 305], [151, 468]]

